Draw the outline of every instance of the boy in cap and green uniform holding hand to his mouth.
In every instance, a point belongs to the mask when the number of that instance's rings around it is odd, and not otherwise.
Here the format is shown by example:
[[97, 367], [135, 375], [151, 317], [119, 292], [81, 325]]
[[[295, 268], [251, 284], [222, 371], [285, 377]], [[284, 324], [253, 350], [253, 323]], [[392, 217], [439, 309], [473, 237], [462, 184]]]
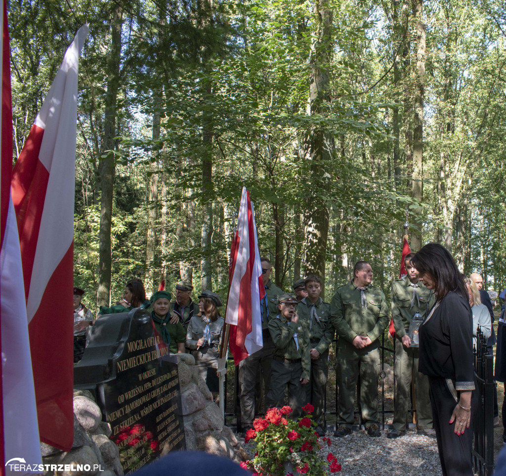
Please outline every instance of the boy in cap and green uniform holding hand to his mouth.
[[267, 395], [267, 407], [281, 408], [284, 391], [288, 386], [288, 405], [293, 409], [291, 418], [302, 414], [307, 403], [305, 385], [311, 372], [309, 334], [306, 324], [296, 312], [297, 298], [283, 294], [278, 298], [279, 314], [269, 321], [269, 332], [274, 343], [271, 368], [271, 389]]

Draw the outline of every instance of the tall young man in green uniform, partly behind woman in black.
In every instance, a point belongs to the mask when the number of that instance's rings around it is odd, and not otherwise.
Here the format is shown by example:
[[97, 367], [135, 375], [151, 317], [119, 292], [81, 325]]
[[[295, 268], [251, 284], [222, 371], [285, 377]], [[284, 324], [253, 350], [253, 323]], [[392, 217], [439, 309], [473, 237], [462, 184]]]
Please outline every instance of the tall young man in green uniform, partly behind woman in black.
[[410, 253], [404, 260], [407, 276], [392, 283], [392, 319], [395, 326], [395, 399], [394, 399], [394, 429], [388, 438], [398, 438], [405, 433], [406, 419], [410, 406], [409, 387], [411, 372], [414, 374], [416, 395], [416, 425], [418, 433], [436, 438], [436, 431], [432, 428], [432, 409], [429, 399], [429, 378], [418, 372], [418, 347], [409, 347], [411, 339], [407, 332], [411, 318], [419, 312], [426, 318], [436, 298], [424, 284], [418, 282], [418, 271], [411, 265]]

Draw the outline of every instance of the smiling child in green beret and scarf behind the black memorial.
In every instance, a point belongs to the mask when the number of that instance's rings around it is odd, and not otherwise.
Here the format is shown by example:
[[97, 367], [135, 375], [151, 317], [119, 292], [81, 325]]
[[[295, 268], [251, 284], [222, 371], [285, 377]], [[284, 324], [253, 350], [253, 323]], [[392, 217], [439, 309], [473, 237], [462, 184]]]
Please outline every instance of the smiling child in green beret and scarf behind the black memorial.
[[150, 301], [153, 306], [151, 319], [163, 342], [168, 345], [170, 353], [185, 351], [186, 330], [180, 322], [171, 324], [171, 315], [168, 312], [171, 305], [171, 295], [167, 291], [156, 291]]

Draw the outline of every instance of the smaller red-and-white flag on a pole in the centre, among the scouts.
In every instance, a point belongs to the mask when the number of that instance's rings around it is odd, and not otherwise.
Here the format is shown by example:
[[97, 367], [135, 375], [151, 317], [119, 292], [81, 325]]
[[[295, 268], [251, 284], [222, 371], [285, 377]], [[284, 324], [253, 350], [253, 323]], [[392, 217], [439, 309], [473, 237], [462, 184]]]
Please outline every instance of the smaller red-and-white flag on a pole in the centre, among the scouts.
[[265, 288], [255, 211], [246, 187], [242, 188], [237, 232], [231, 249], [229, 279], [225, 323], [230, 324], [228, 345], [234, 363], [238, 365], [264, 345], [260, 300], [265, 296]]

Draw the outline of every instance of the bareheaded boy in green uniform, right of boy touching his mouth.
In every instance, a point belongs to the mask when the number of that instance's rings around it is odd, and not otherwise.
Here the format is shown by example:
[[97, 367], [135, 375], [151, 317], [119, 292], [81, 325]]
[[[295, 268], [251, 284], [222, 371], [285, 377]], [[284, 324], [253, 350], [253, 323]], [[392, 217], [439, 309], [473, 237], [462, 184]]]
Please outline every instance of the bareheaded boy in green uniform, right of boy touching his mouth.
[[305, 322], [309, 329], [311, 344], [311, 378], [306, 386], [307, 401], [315, 407], [314, 419], [317, 424], [316, 432], [322, 437], [323, 429], [323, 399], [328, 376], [328, 347], [331, 344], [335, 329], [329, 322], [330, 304], [323, 302], [320, 297], [321, 277], [310, 274], [305, 282], [308, 297], [297, 306], [299, 319]]

